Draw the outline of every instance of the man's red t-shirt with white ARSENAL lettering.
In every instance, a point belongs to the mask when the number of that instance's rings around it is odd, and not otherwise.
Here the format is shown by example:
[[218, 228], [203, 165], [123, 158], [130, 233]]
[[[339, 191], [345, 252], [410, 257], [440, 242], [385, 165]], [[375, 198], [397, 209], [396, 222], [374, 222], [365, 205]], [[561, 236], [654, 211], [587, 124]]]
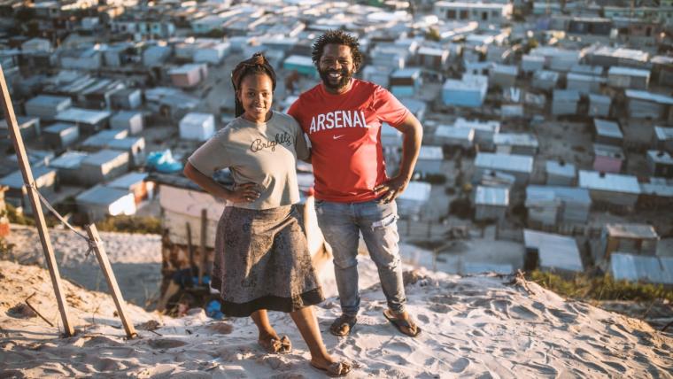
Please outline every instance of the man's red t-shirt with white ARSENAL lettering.
[[381, 126], [397, 127], [409, 114], [397, 98], [368, 81], [353, 79], [340, 95], [321, 83], [301, 94], [288, 113], [311, 140], [315, 197], [338, 203], [376, 197], [375, 186], [387, 180]]

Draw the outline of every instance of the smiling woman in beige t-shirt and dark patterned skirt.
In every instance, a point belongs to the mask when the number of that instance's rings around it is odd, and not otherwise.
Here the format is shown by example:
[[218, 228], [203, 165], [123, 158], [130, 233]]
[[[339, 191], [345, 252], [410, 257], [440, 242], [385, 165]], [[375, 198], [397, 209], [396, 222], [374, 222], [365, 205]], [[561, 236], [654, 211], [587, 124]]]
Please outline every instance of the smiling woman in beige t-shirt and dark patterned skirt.
[[[311, 352], [311, 365], [329, 375], [345, 375], [349, 364], [329, 356], [322, 343], [313, 305], [323, 300], [306, 236], [293, 204], [299, 200], [296, 159], [310, 152], [297, 122], [271, 110], [275, 72], [257, 53], [231, 74], [236, 120], [189, 158], [184, 174], [214, 197], [228, 200], [215, 239], [213, 288], [220, 290], [222, 312], [251, 316], [259, 344], [267, 352], [290, 352], [267, 310], [290, 313]], [[229, 167], [234, 188], [212, 179]]]

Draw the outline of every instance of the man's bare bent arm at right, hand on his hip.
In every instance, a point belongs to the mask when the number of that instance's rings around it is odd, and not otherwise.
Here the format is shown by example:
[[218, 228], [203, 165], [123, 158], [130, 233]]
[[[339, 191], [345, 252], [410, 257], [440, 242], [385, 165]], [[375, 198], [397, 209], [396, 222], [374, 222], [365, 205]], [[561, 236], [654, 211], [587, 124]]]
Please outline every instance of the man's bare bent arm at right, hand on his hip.
[[399, 173], [388, 182], [376, 186], [374, 191], [376, 196], [383, 195], [383, 201], [390, 203], [396, 197], [402, 194], [409, 184], [414, 166], [418, 159], [418, 151], [421, 150], [421, 141], [423, 139], [423, 128], [421, 122], [409, 112], [406, 119], [399, 124], [397, 128], [404, 135], [402, 143], [402, 160], [399, 163]]

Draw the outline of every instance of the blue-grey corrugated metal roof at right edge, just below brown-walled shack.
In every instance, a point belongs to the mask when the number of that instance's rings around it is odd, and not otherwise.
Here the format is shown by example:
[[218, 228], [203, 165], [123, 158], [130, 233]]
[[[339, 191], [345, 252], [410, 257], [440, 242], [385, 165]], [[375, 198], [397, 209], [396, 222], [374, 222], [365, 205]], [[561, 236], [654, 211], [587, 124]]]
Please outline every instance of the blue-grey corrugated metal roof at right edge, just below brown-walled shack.
[[610, 254], [610, 272], [617, 280], [673, 284], [673, 257]]

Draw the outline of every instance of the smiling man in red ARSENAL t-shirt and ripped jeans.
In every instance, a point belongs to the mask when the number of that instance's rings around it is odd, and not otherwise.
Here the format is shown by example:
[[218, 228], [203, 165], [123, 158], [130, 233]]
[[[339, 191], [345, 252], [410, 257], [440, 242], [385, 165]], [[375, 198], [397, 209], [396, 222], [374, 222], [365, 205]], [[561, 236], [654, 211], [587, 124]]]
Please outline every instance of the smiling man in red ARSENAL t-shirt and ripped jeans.
[[[405, 309], [395, 198], [414, 172], [422, 126], [387, 89], [352, 78], [362, 64], [358, 47], [358, 40], [341, 30], [318, 37], [313, 63], [321, 83], [289, 110], [311, 140], [318, 225], [334, 255], [342, 315], [330, 332], [346, 336], [357, 322], [361, 233], [388, 300], [383, 314], [403, 334], [417, 336], [421, 329]], [[393, 178], [385, 173], [383, 122], [404, 135], [399, 172]]]

